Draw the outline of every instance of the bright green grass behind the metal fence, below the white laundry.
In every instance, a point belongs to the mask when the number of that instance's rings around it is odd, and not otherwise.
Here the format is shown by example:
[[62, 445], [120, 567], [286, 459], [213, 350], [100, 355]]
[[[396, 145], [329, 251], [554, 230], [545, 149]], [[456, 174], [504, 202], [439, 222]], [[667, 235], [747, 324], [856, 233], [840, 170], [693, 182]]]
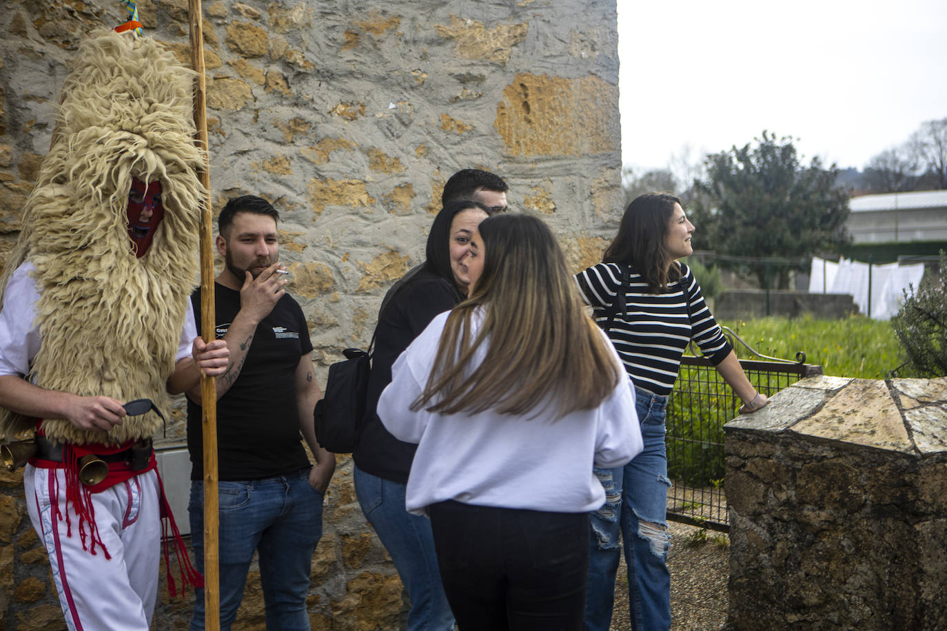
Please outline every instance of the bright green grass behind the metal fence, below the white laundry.
[[[888, 322], [851, 316], [840, 320], [771, 317], [720, 324], [764, 355], [795, 359], [795, 353], [803, 351], [806, 362], [822, 366], [824, 375], [884, 379], [899, 369], [897, 377], [918, 377], [901, 367], [901, 344]], [[737, 355], [752, 359], [745, 348], [738, 348]]]

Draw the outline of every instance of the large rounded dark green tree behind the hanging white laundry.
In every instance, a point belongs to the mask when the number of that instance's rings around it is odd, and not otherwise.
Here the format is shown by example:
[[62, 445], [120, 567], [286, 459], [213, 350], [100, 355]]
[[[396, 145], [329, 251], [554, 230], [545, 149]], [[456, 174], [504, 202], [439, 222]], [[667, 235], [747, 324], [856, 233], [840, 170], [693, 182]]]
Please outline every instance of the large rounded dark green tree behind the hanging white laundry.
[[[702, 193], [691, 207], [708, 244], [720, 254], [802, 258], [849, 242], [849, 189], [835, 184], [835, 165], [813, 158], [804, 166], [793, 139], [762, 132], [755, 144], [708, 154]], [[764, 266], [754, 270], [760, 286]], [[789, 269], [776, 273], [789, 285]]]

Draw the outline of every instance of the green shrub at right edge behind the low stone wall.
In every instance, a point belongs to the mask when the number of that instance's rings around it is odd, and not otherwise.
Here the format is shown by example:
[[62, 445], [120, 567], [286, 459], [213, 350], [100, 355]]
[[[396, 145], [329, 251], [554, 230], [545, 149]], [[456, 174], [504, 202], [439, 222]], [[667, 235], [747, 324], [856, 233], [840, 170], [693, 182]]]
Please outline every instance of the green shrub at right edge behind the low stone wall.
[[906, 365], [924, 377], [941, 377], [947, 375], [947, 254], [943, 250], [940, 273], [928, 281], [921, 281], [914, 295], [904, 292], [904, 303], [891, 325]]

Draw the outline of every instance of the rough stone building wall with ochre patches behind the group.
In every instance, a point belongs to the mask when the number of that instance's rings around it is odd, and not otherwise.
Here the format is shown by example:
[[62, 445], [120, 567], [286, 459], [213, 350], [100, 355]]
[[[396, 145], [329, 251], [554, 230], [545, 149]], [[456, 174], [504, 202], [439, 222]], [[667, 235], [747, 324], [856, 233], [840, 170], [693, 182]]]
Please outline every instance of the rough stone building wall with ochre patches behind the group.
[[[188, 55], [183, 0], [138, 4], [146, 32]], [[118, 2], [0, 4], [0, 257], [49, 146], [80, 38], [125, 20]], [[599, 260], [621, 212], [615, 0], [233, 0], [204, 5], [212, 203], [252, 193], [282, 213], [319, 377], [365, 346], [384, 290], [423, 256], [444, 182], [504, 176], [574, 269]], [[195, 276], [196, 277], [196, 276]], [[184, 436], [181, 413], [168, 442]], [[316, 552], [314, 628], [397, 628], [401, 585], [339, 458]], [[0, 478], [0, 628], [56, 628], [21, 475]], [[248, 583], [240, 628], [262, 628]], [[189, 601], [159, 605], [183, 627]]]

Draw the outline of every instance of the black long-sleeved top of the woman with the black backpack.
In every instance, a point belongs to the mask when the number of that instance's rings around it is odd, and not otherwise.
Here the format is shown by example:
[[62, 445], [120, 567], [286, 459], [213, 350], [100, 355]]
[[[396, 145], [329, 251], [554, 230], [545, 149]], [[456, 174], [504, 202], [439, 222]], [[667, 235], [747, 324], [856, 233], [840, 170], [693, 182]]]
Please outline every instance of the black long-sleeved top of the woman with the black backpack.
[[366, 417], [352, 457], [360, 469], [385, 480], [407, 482], [418, 446], [404, 443], [384, 429], [376, 409], [385, 386], [391, 383], [391, 366], [402, 351], [427, 328], [438, 313], [460, 302], [454, 285], [431, 272], [418, 272], [378, 317], [375, 349], [366, 395]]

